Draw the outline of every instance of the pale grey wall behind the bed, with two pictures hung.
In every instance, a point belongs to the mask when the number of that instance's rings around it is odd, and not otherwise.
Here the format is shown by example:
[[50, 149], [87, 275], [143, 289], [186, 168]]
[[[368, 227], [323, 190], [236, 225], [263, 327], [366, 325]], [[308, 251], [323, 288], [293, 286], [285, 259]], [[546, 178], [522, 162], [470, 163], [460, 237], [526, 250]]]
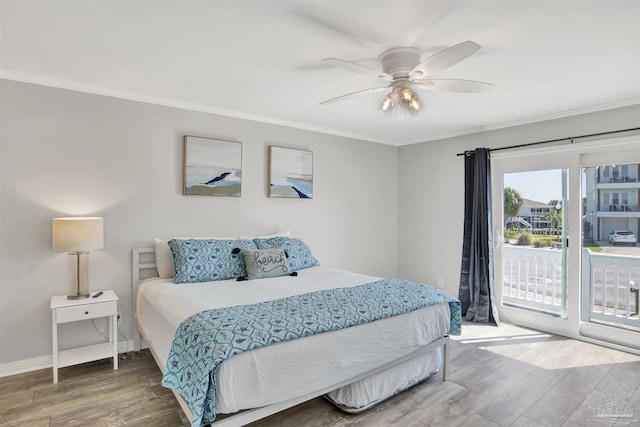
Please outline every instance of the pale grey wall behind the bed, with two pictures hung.
[[[6, 80], [0, 90], [0, 367], [51, 355], [49, 299], [67, 293], [57, 216], [104, 217], [90, 287], [117, 292], [129, 340], [131, 249], [156, 236], [289, 229], [323, 265], [397, 275], [397, 147]], [[242, 141], [242, 197], [182, 195], [185, 134]], [[266, 196], [270, 144], [313, 150], [312, 200]], [[91, 325], [64, 326], [62, 346], [100, 340]]]

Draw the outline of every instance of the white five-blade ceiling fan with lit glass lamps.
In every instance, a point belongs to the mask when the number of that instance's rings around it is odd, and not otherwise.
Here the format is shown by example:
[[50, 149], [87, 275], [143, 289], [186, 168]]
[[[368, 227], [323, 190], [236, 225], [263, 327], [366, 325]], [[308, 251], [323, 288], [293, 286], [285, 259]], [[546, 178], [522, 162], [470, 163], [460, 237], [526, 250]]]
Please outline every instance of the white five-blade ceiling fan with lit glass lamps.
[[336, 58], [323, 59], [324, 62], [346, 68], [356, 73], [377, 77], [385, 82], [386, 86], [374, 87], [347, 93], [336, 98], [327, 99], [320, 105], [390, 89], [387, 96], [380, 102], [378, 110], [389, 115], [396, 104], [406, 108], [412, 116], [420, 113], [421, 103], [418, 94], [413, 88], [427, 90], [442, 90], [447, 92], [487, 92], [494, 85], [475, 80], [460, 79], [432, 79], [429, 76], [436, 74], [463, 59], [471, 56], [480, 45], [470, 40], [453, 45], [432, 56], [420, 61], [420, 49], [415, 47], [395, 47], [385, 50], [378, 57], [382, 65], [382, 71], [355, 62], [344, 61]]

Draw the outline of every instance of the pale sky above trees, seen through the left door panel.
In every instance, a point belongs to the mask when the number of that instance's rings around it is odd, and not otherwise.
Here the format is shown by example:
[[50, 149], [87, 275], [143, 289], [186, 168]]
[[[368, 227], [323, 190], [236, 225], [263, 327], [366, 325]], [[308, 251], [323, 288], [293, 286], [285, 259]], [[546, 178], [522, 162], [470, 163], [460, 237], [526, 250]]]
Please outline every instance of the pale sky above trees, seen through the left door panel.
[[504, 174], [504, 186], [511, 187], [524, 199], [540, 203], [562, 199], [560, 169]]

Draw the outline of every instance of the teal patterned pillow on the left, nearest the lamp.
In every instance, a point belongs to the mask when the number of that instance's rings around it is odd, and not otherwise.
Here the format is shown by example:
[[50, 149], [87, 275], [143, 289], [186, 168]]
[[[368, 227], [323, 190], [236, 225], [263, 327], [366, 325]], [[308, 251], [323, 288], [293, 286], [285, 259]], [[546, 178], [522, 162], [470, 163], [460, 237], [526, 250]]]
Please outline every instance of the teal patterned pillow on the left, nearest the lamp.
[[172, 239], [168, 243], [176, 270], [174, 283], [210, 282], [245, 276], [244, 258], [233, 250], [256, 248], [252, 240], [235, 239]]

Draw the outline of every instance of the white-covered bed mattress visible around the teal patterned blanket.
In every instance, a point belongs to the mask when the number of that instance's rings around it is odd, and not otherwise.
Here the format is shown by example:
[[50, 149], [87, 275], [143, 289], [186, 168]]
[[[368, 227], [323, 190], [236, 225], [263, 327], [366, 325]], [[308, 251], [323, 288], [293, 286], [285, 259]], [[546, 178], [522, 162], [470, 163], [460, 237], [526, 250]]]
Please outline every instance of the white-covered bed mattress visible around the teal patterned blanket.
[[[301, 270], [297, 277], [244, 282], [174, 284], [171, 279], [147, 279], [137, 288], [136, 317], [140, 331], [164, 370], [163, 361], [168, 357], [175, 332], [192, 314], [376, 280], [379, 278], [321, 266]], [[449, 324], [449, 305], [436, 304], [400, 316], [239, 354], [220, 366], [216, 411], [234, 413], [267, 406], [328, 387], [442, 337], [448, 332]], [[439, 359], [434, 363], [438, 362]], [[393, 372], [378, 375], [398, 376]], [[382, 382], [387, 388], [395, 387], [389, 381]], [[338, 397], [339, 401], [356, 407], [365, 401], [370, 394], [366, 390], [371, 390], [372, 386], [364, 380], [359, 383], [352, 390], [360, 387], [360, 392], [346, 392], [348, 396]]]

